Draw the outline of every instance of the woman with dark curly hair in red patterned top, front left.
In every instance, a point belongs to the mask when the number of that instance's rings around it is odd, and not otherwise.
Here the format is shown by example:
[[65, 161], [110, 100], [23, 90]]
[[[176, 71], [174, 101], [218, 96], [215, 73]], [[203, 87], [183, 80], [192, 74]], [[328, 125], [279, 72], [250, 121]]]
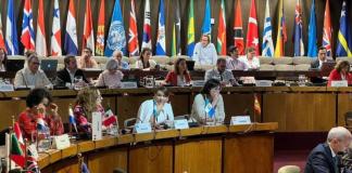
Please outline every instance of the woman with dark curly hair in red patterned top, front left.
[[26, 98], [27, 108], [20, 114], [18, 123], [24, 132], [24, 137], [32, 139], [37, 133], [37, 121], [42, 119], [49, 128], [51, 135], [64, 133], [58, 105], [52, 103], [52, 97], [46, 89], [34, 89]]

